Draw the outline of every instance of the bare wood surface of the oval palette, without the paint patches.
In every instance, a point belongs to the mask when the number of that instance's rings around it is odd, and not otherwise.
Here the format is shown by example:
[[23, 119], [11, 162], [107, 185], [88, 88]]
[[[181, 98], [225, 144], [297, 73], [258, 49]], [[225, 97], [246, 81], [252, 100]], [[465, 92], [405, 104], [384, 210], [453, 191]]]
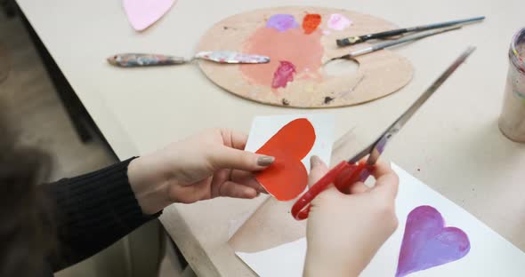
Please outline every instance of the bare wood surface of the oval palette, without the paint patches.
[[[319, 7], [279, 7], [241, 13], [216, 23], [202, 36], [200, 44], [198, 44], [198, 51], [246, 51], [250, 48], [249, 45], [253, 43], [255, 31], [266, 28], [267, 20], [272, 15], [291, 14], [298, 23], [298, 28], [302, 30], [303, 17], [308, 13], [321, 15], [321, 23], [315, 31], [318, 33], [304, 36], [315, 35], [316, 38], [319, 37], [323, 49], [322, 57], [320, 57], [322, 64], [349, 51], [369, 45], [358, 44], [339, 48], [335, 44], [336, 38], [395, 28], [392, 23], [358, 12]], [[351, 26], [341, 31], [328, 28], [327, 21], [334, 13], [342, 14], [350, 19], [352, 21]], [[297, 45], [298, 51], [302, 51], [301, 46], [301, 44]], [[279, 47], [279, 43], [272, 40], [269, 51], [279, 53]], [[257, 54], [271, 57], [269, 53], [257, 52]], [[289, 58], [294, 59], [294, 57]], [[295, 59], [298, 58], [295, 57]], [[297, 72], [292, 82], [287, 83], [286, 87], [278, 89], [272, 88], [271, 82], [267, 84], [256, 83], [246, 75], [245, 69], [241, 71], [241, 67], [272, 67], [271, 72], [273, 72], [279, 67], [279, 61], [272, 59], [271, 64], [268, 65], [242, 66], [199, 61], [199, 66], [209, 79], [226, 91], [264, 104], [287, 107], [343, 107], [367, 102], [398, 91], [411, 80], [413, 73], [412, 65], [408, 59], [387, 50], [357, 57], [356, 61], [359, 63], [357, 71], [343, 75], [328, 75], [324, 67], [319, 67], [315, 72], [320, 76], [317, 79], [305, 75], [305, 72]], [[291, 61], [292, 63], [300, 62]]]

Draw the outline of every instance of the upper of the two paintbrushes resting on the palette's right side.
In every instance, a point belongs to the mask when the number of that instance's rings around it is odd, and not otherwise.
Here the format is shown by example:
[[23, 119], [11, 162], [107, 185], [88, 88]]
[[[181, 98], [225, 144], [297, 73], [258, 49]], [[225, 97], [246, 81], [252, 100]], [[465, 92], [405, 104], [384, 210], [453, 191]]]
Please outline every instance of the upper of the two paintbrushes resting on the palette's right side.
[[440, 22], [440, 23], [416, 26], [416, 27], [411, 27], [411, 28], [399, 28], [399, 29], [394, 29], [394, 30], [375, 33], [375, 34], [368, 34], [368, 35], [363, 35], [363, 36], [351, 36], [351, 37], [347, 37], [343, 39], [338, 39], [336, 40], [336, 43], [338, 46], [343, 47], [343, 46], [349, 46], [353, 44], [360, 44], [370, 39], [398, 36], [398, 35], [409, 33], [409, 32], [426, 31], [426, 30], [430, 30], [434, 28], [443, 28], [443, 27], [448, 27], [448, 26], [453, 26], [453, 25], [480, 21], [484, 19], [485, 19], [484, 16], [480, 16], [480, 17], [475, 17], [475, 18], [466, 19], [466, 20], [452, 20], [452, 21], [447, 21], [447, 22]]

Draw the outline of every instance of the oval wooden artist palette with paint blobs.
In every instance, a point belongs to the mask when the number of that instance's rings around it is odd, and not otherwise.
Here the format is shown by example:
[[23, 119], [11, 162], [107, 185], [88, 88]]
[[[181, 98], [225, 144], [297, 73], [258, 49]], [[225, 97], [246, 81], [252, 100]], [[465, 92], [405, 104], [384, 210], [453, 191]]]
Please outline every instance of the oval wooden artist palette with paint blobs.
[[398, 91], [412, 78], [413, 68], [408, 59], [383, 50], [356, 58], [359, 68], [353, 72], [329, 74], [324, 65], [330, 59], [369, 45], [339, 48], [335, 40], [392, 28], [392, 23], [373, 16], [329, 8], [245, 12], [216, 23], [202, 37], [198, 51], [242, 51], [270, 56], [271, 62], [219, 65], [200, 61], [199, 67], [226, 91], [264, 104], [355, 105]]

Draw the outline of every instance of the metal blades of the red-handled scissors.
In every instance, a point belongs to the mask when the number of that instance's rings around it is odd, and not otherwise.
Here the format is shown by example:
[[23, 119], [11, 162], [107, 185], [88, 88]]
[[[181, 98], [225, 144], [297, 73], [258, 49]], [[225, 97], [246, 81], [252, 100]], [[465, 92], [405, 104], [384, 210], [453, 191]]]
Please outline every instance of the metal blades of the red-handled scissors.
[[379, 156], [383, 153], [384, 147], [388, 143], [392, 137], [397, 134], [401, 128], [405, 125], [405, 123], [408, 122], [408, 120], [412, 117], [412, 115], [416, 114], [416, 111], [423, 106], [424, 102], [429, 99], [432, 94], [437, 91], [441, 84], [445, 83], [445, 81], [448, 79], [454, 71], [456, 71], [456, 68], [459, 67], [464, 60], [472, 53], [472, 51], [476, 50], [476, 47], [469, 46], [448, 68], [443, 72], [440, 77], [432, 85], [426, 89], [426, 91], [423, 92], [423, 94], [416, 99], [416, 101], [408, 107], [408, 109], [400, 115], [396, 121], [394, 121], [382, 134], [379, 136], [378, 139], [376, 139], [372, 144], [367, 146], [365, 149], [361, 150], [358, 154], [353, 156], [348, 162], [350, 163], [356, 163], [359, 162], [360, 159], [365, 157], [367, 154], [367, 164], [372, 165], [375, 164]]

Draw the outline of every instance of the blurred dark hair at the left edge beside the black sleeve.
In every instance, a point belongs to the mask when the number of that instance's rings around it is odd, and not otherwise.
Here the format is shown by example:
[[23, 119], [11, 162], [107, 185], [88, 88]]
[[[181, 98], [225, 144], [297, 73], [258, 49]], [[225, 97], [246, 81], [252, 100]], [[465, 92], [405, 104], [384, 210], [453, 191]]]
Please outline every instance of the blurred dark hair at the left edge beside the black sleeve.
[[49, 171], [50, 156], [15, 146], [6, 127], [0, 122], [0, 276], [34, 276], [54, 241], [52, 204], [36, 186]]

